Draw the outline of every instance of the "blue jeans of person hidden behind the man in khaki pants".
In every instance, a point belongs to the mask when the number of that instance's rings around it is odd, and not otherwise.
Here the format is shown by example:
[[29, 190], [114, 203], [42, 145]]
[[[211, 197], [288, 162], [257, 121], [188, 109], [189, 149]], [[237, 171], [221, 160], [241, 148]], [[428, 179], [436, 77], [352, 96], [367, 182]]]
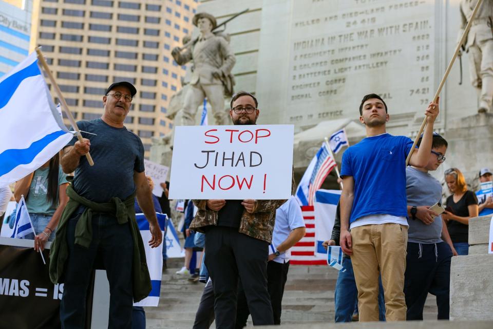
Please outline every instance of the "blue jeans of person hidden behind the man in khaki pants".
[[[335, 322], [351, 322], [354, 313], [354, 303], [358, 300], [358, 289], [354, 280], [353, 264], [350, 258], [344, 258], [343, 266], [345, 272], [339, 271], [335, 284]], [[380, 284], [378, 293], [378, 306], [380, 309], [380, 321], [385, 321], [385, 299], [382, 279], [378, 278]]]

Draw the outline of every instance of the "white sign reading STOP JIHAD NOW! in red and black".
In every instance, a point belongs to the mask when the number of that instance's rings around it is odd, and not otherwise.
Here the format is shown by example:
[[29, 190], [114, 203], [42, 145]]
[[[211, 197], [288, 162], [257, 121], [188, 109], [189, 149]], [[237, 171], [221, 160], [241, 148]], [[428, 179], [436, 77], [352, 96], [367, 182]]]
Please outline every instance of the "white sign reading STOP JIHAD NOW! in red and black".
[[176, 126], [170, 199], [288, 199], [294, 126]]

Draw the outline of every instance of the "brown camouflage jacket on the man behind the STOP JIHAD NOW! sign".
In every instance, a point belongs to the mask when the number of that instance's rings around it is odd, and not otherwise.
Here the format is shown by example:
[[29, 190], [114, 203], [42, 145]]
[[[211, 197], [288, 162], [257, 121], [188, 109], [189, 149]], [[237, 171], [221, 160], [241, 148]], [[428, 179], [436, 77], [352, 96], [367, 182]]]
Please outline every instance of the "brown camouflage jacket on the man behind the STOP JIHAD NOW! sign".
[[[193, 200], [199, 208], [190, 229], [204, 233], [204, 227], [217, 225], [217, 211], [207, 208], [207, 200]], [[238, 232], [255, 237], [255, 239], [272, 241], [272, 231], [276, 222], [276, 209], [286, 200], [256, 200], [253, 213], [243, 211]]]

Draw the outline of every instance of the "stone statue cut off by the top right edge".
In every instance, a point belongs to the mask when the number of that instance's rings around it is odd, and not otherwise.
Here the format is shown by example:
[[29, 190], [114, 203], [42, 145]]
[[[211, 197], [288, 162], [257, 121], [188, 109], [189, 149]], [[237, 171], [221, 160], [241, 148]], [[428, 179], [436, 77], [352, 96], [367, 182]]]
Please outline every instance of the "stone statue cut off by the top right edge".
[[[459, 38], [478, 0], [462, 0]], [[493, 101], [493, 0], [484, 0], [479, 7], [463, 45], [469, 58], [471, 84], [479, 96], [478, 112], [491, 112]]]

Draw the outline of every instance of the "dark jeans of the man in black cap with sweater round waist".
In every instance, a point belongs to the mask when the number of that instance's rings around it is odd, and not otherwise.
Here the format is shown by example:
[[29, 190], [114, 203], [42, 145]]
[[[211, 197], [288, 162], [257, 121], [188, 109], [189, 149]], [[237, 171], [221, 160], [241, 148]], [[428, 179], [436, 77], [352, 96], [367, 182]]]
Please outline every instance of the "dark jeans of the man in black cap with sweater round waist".
[[128, 223], [96, 213], [92, 216], [92, 240], [89, 248], [75, 245], [75, 225], [81, 214], [74, 214], [67, 225], [68, 258], [65, 264], [60, 321], [63, 329], [85, 327], [87, 288], [98, 257], [109, 281], [108, 328], [131, 329], [132, 255], [134, 242]]

